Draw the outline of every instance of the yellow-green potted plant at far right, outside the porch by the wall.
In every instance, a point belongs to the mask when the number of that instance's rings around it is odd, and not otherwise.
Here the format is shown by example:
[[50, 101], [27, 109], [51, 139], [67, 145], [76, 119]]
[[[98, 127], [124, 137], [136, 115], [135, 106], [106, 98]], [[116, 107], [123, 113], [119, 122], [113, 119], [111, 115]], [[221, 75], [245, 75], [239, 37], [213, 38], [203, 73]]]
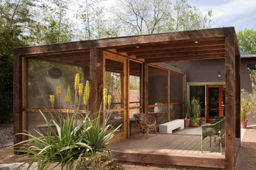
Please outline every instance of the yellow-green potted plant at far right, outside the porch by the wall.
[[247, 115], [250, 113], [252, 109], [252, 102], [249, 99], [242, 98], [241, 99], [241, 126], [242, 128], [247, 127]]

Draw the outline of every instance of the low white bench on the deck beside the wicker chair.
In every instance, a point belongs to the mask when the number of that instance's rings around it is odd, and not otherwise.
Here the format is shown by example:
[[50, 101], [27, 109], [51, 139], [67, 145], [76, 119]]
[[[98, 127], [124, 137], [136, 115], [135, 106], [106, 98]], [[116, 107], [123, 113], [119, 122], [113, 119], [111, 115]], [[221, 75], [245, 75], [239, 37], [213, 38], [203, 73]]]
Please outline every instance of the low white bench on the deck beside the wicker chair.
[[172, 133], [174, 129], [184, 129], [184, 120], [183, 119], [176, 119], [171, 122], [163, 123], [159, 125], [159, 133]]

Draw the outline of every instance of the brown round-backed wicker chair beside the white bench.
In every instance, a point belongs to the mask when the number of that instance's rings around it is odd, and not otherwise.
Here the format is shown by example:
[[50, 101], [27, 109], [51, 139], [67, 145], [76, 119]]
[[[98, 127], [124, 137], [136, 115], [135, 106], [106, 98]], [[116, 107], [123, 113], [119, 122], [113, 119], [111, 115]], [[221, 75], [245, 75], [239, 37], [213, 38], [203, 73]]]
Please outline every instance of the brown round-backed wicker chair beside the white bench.
[[156, 128], [156, 120], [155, 117], [151, 117], [146, 114], [134, 114], [133, 115], [135, 122], [136, 122], [136, 129], [137, 133], [146, 133], [146, 138], [147, 134], [149, 133], [149, 130], [155, 129], [155, 135], [157, 135], [157, 128]]

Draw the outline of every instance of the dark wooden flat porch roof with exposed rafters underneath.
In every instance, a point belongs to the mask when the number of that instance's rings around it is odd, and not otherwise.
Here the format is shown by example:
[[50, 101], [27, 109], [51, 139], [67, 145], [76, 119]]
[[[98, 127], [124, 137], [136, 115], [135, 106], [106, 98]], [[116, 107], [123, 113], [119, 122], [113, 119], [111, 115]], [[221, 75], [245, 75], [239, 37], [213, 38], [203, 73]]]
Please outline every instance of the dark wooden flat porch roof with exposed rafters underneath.
[[235, 37], [236, 56], [240, 56], [234, 27], [178, 31], [140, 36], [112, 37], [91, 41], [67, 42], [16, 48], [20, 56], [36, 56], [44, 60], [85, 66], [89, 49], [109, 52], [147, 63], [172, 60], [204, 60], [225, 58], [227, 36]]

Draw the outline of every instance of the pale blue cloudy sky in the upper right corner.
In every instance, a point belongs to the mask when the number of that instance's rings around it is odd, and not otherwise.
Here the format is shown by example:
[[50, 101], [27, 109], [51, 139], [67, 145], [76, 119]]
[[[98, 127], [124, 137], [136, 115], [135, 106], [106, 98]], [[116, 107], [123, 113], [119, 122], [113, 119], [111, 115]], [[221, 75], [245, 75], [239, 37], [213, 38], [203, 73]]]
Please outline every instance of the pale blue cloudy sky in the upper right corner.
[[187, 0], [202, 13], [212, 10], [212, 28], [256, 29], [256, 0]]

